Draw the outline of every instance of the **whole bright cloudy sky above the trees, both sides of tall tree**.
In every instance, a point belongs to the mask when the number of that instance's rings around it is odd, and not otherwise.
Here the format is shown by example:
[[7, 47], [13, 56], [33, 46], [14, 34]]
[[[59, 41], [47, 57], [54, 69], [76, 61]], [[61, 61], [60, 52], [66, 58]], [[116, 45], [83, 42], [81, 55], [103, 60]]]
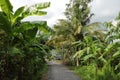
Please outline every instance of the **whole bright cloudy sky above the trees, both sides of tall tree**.
[[[45, 16], [34, 16], [28, 17], [26, 21], [36, 21], [36, 20], [46, 20], [48, 25], [52, 27], [58, 19], [65, 19], [64, 11], [66, 4], [69, 3], [69, 0], [10, 0], [14, 6], [14, 11], [21, 6], [30, 6], [35, 3], [40, 2], [51, 2], [49, 8], [45, 9], [47, 15]], [[91, 13], [94, 13], [94, 16], [91, 19], [91, 22], [105, 22], [112, 21], [115, 19], [117, 14], [120, 11], [120, 0], [93, 0], [90, 5]]]

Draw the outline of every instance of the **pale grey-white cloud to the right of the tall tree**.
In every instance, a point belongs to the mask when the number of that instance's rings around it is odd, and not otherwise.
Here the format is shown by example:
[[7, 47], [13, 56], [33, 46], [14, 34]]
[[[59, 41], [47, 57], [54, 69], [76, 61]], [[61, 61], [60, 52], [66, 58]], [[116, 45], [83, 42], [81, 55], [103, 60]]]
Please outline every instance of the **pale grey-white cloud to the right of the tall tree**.
[[91, 12], [95, 15], [92, 22], [113, 20], [120, 11], [120, 0], [93, 0]]

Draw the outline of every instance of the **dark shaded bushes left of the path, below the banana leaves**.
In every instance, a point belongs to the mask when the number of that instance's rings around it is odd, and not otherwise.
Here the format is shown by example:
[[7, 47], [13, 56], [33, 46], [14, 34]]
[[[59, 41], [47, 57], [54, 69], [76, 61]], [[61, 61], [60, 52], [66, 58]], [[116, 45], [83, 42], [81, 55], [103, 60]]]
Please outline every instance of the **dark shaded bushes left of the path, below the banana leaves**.
[[0, 53], [0, 80], [40, 80], [46, 67], [45, 53], [28, 46], [22, 52]]

